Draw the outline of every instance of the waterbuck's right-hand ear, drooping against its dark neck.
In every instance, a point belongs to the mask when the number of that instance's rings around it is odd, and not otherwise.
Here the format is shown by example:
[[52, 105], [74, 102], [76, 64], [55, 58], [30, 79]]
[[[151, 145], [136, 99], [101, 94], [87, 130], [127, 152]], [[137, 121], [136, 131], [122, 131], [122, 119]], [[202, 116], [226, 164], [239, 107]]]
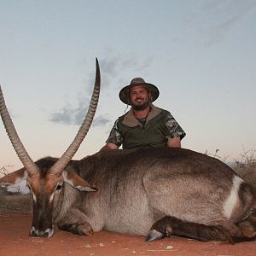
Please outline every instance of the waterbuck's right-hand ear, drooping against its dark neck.
[[62, 177], [64, 182], [69, 183], [76, 189], [80, 191], [98, 191], [96, 188], [92, 187], [90, 183], [80, 177], [76, 172], [73, 171], [73, 168], [67, 166], [66, 169], [62, 172]]

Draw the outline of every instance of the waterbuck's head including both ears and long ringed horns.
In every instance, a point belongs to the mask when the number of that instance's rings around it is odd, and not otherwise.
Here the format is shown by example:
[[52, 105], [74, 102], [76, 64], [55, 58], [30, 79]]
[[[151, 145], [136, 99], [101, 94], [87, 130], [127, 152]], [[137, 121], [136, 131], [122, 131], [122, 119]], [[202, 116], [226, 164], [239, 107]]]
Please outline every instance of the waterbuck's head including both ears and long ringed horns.
[[94, 90], [90, 99], [90, 106], [79, 128], [73, 142], [62, 154], [60, 159], [43, 159], [34, 162], [20, 141], [15, 125], [6, 108], [3, 92], [0, 86], [0, 113], [3, 125], [8, 133], [9, 139], [15, 148], [16, 154], [23, 164], [23, 168], [0, 178], [0, 183], [19, 183], [26, 179], [26, 183], [32, 193], [32, 236], [49, 237], [54, 233], [53, 224], [53, 201], [60, 199], [61, 189], [64, 182], [83, 191], [96, 191], [83, 178], [73, 172], [67, 164], [79, 149], [84, 137], [90, 129], [100, 94], [101, 74], [99, 63], [96, 59], [96, 80]]

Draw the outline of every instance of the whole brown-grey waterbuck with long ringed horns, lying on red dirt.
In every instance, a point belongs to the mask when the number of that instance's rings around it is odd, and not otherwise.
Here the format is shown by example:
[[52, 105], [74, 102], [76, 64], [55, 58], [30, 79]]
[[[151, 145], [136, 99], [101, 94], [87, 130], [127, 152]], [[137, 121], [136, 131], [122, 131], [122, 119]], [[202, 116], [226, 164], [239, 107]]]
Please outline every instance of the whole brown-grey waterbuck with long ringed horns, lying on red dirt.
[[220, 160], [184, 148], [106, 150], [72, 160], [89, 131], [100, 88], [71, 146], [57, 158], [33, 162], [15, 131], [0, 88], [0, 111], [24, 168], [0, 183], [26, 179], [32, 194], [32, 236], [55, 224], [78, 235], [109, 230], [153, 241], [177, 235], [201, 241], [253, 241], [239, 224], [256, 207], [256, 191]]

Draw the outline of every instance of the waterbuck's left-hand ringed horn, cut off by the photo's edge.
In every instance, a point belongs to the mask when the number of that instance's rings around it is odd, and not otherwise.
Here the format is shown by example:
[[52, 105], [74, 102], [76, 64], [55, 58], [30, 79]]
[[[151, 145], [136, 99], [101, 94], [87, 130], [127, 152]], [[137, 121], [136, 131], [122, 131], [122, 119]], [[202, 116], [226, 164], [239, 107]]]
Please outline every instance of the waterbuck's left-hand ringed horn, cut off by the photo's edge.
[[26, 149], [20, 141], [17, 131], [15, 130], [15, 125], [9, 115], [8, 109], [6, 108], [3, 91], [0, 86], [0, 113], [3, 119], [3, 125], [9, 136], [13, 147], [15, 148], [16, 154], [18, 155], [23, 166], [26, 168], [26, 171], [29, 176], [33, 176], [38, 172], [38, 166], [33, 162], [29, 154], [27, 154]]

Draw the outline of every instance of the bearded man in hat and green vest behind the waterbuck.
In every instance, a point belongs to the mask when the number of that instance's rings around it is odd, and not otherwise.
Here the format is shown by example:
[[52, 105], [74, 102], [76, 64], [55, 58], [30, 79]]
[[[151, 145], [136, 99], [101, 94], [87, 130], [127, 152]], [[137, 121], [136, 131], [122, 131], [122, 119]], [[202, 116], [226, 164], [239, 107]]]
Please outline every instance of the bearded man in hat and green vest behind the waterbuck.
[[157, 87], [141, 78], [120, 90], [120, 100], [131, 109], [115, 121], [102, 149], [180, 148], [186, 134], [170, 112], [152, 104], [158, 96]]

